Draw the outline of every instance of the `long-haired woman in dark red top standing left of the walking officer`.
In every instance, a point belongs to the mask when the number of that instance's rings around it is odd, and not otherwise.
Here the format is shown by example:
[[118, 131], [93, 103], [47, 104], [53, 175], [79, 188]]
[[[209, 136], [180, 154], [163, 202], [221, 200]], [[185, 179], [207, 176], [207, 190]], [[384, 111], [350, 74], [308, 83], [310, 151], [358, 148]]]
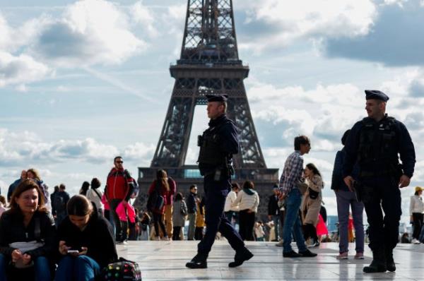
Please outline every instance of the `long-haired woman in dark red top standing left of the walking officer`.
[[155, 226], [155, 240], [160, 240], [159, 226], [160, 226], [160, 230], [163, 233], [163, 239], [169, 240], [169, 238], [167, 237], [165, 225], [162, 220], [163, 214], [165, 213], [165, 205], [167, 204], [166, 194], [169, 191], [170, 191], [170, 185], [168, 184], [167, 173], [163, 169], [160, 169], [158, 170], [158, 172], [156, 172], [156, 179], [153, 181], [150, 188], [148, 189], [149, 196], [153, 192], [158, 192], [158, 194], [160, 196], [163, 196], [163, 199], [164, 199], [163, 206], [160, 209], [152, 210], [153, 224]]

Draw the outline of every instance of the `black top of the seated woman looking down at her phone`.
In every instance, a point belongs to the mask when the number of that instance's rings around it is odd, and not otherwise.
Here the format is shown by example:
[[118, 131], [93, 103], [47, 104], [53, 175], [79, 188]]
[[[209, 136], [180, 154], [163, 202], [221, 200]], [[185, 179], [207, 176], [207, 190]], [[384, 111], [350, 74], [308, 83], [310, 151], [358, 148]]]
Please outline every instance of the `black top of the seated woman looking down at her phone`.
[[57, 229], [57, 236], [59, 241], [65, 241], [66, 246], [70, 246], [72, 249], [87, 247], [87, 256], [93, 258], [100, 268], [117, 261], [112, 226], [103, 217], [99, 217], [96, 212], [93, 212], [83, 231], [73, 225], [69, 217], [66, 217]]

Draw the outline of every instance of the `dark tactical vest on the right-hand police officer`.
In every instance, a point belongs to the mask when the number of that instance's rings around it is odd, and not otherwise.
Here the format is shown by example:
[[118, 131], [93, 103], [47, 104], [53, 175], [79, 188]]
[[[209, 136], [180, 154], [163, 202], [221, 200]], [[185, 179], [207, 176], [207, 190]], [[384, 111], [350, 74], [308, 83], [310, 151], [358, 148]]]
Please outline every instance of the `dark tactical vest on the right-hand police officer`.
[[399, 165], [396, 119], [386, 116], [382, 121], [367, 117], [360, 131], [358, 162], [361, 170], [391, 172]]

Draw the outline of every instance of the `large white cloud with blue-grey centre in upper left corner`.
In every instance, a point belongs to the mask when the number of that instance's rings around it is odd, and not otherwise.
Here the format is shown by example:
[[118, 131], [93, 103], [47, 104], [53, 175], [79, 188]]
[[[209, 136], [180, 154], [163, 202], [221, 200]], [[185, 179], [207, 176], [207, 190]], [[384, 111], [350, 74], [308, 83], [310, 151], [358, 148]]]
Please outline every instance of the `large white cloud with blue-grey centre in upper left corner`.
[[[60, 17], [47, 13], [12, 28], [0, 13], [0, 87], [45, 78], [56, 67], [121, 64], [147, 43], [131, 23], [155, 36], [152, 13], [136, 2], [130, 9], [105, 0], [81, 0]], [[140, 28], [140, 25], [142, 28]]]

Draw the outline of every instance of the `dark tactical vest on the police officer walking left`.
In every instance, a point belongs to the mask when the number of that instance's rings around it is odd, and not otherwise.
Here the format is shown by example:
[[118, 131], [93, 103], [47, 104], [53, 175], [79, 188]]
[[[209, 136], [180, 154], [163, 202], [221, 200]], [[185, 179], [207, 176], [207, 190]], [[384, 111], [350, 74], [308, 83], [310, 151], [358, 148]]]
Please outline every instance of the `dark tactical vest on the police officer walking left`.
[[225, 167], [225, 153], [220, 148], [222, 140], [219, 130], [222, 126], [230, 122], [227, 119], [222, 124], [218, 124], [218, 126], [213, 126], [204, 131], [199, 142], [200, 152], [199, 159], [197, 160], [200, 170], [206, 167]]

